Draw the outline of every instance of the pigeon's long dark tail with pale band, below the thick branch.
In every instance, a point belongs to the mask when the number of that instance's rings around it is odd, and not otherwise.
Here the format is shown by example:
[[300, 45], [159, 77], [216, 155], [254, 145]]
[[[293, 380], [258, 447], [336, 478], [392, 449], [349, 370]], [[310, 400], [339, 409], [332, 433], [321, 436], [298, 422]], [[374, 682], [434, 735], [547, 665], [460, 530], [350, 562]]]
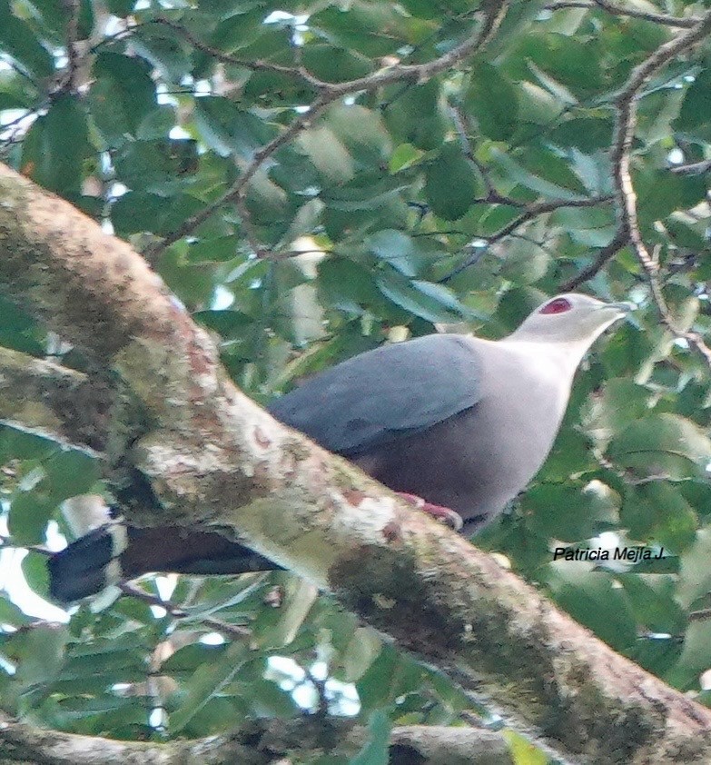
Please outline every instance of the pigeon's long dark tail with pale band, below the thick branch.
[[48, 561], [49, 591], [69, 603], [149, 571], [238, 574], [276, 563], [215, 532], [140, 529], [112, 522], [74, 541]]

